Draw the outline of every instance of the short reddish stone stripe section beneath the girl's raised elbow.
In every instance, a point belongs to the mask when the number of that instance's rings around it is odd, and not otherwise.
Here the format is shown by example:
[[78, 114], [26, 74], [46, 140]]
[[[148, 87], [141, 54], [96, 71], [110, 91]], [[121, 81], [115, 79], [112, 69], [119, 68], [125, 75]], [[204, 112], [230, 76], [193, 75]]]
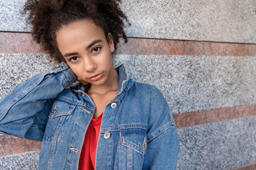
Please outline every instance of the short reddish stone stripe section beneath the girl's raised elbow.
[[40, 149], [41, 142], [24, 140], [10, 135], [0, 135], [0, 157], [11, 154], [39, 151]]

